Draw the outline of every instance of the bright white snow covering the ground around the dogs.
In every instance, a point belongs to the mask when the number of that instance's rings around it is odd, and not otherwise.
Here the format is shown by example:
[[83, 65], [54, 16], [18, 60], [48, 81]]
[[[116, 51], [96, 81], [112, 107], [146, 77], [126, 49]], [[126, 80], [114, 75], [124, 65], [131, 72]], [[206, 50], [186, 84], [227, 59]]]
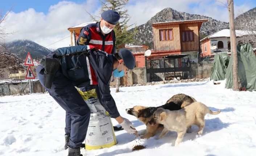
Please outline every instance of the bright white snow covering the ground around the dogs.
[[[214, 85], [213, 81], [192, 83], [158, 84], [121, 87], [119, 93], [111, 88], [120, 114], [128, 118], [139, 131], [145, 125], [125, 112], [135, 105], [160, 106], [174, 94], [184, 93], [203, 102], [212, 111], [220, 109], [218, 115], [205, 116], [202, 136], [192, 126], [192, 133], [185, 134], [179, 147], [173, 147], [176, 132], [164, 138], [156, 136], [141, 139], [146, 146], [132, 151], [138, 138], [123, 131], [116, 131], [117, 144], [110, 148], [86, 151], [83, 156], [254, 156], [256, 153], [256, 92], [235, 92], [224, 88], [224, 81]], [[65, 111], [48, 94], [0, 97], [0, 155], [3, 156], [60, 156], [64, 150]], [[112, 119], [113, 125], [117, 125]]]

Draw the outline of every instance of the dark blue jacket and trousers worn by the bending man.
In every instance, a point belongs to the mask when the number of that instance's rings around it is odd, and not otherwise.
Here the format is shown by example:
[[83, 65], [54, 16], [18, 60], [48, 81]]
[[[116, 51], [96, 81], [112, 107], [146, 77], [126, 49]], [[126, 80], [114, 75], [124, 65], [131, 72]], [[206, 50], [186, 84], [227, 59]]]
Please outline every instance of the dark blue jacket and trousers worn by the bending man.
[[[71, 148], [80, 148], [85, 139], [90, 119], [90, 109], [74, 87], [85, 87], [90, 84], [89, 62], [98, 80], [95, 89], [100, 104], [112, 118], [120, 116], [115, 101], [110, 94], [109, 86], [115, 58], [112, 54], [107, 54], [104, 51], [90, 50], [90, 47], [63, 47], [48, 55], [49, 58], [59, 60], [60, 67], [55, 74], [51, 88], [46, 88], [46, 90], [66, 111], [65, 131], [70, 133], [68, 145]], [[38, 79], [42, 85], [44, 85], [44, 71], [41, 64], [36, 69]], [[71, 131], [69, 131], [70, 129]]]

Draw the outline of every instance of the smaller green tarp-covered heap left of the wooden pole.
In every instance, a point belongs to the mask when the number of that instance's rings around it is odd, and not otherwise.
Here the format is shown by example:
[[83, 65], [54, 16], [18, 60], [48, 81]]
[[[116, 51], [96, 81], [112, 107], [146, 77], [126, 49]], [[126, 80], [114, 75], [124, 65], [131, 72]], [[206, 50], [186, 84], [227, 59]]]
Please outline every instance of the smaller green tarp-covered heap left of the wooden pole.
[[219, 81], [225, 79], [229, 60], [230, 56], [227, 52], [221, 52], [214, 55], [210, 80]]

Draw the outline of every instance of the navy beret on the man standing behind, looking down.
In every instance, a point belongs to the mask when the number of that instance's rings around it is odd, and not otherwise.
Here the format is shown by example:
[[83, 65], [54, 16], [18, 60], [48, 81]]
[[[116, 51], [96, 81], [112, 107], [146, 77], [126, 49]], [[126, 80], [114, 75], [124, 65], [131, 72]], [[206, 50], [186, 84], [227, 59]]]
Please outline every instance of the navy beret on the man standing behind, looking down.
[[110, 24], [116, 25], [120, 19], [120, 14], [114, 10], [107, 10], [101, 14], [101, 18]]

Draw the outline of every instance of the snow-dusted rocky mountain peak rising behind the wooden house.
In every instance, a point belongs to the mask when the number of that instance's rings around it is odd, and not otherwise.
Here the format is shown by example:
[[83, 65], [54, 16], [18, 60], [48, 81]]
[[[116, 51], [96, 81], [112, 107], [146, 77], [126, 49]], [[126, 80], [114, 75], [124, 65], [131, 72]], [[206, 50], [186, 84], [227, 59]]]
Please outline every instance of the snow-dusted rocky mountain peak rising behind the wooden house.
[[[203, 22], [201, 26], [201, 38], [206, 37], [207, 35], [210, 35], [222, 29], [229, 29], [229, 24], [227, 22], [221, 22], [218, 20], [214, 20], [211, 17], [202, 16], [199, 14], [189, 14], [185, 12], [178, 12], [177, 10], [174, 10], [172, 8], [165, 8], [158, 12], [155, 16], [153, 16], [148, 22], [137, 27], [138, 33], [136, 33], [135, 39], [139, 41], [139, 43], [136, 44], [143, 44], [149, 46], [150, 48], [153, 48], [153, 23], [199, 19], [208, 19], [208, 22]], [[131, 29], [131, 31], [133, 30], [134, 29]]]

